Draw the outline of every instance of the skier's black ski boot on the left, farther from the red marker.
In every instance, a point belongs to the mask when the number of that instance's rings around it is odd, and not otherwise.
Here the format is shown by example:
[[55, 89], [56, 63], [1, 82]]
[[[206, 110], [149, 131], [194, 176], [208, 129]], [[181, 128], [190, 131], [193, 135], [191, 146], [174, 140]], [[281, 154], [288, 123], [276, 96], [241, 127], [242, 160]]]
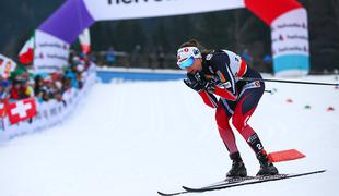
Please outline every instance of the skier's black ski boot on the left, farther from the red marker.
[[247, 170], [245, 168], [241, 154], [239, 152], [231, 154], [230, 158], [232, 159], [233, 163], [231, 170], [226, 174], [226, 179], [247, 176]]

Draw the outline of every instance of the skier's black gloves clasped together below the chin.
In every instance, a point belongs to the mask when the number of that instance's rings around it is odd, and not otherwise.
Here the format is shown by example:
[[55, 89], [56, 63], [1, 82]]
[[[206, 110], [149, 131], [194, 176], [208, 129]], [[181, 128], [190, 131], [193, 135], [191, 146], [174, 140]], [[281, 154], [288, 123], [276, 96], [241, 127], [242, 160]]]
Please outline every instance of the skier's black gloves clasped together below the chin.
[[200, 72], [196, 73], [196, 74], [187, 74], [187, 79], [184, 79], [184, 83], [192, 88], [196, 91], [201, 91], [201, 90], [206, 90], [210, 94], [213, 94], [215, 90], [215, 86], [209, 82], [208, 79], [206, 79], [206, 77], [203, 75], [201, 75]]

